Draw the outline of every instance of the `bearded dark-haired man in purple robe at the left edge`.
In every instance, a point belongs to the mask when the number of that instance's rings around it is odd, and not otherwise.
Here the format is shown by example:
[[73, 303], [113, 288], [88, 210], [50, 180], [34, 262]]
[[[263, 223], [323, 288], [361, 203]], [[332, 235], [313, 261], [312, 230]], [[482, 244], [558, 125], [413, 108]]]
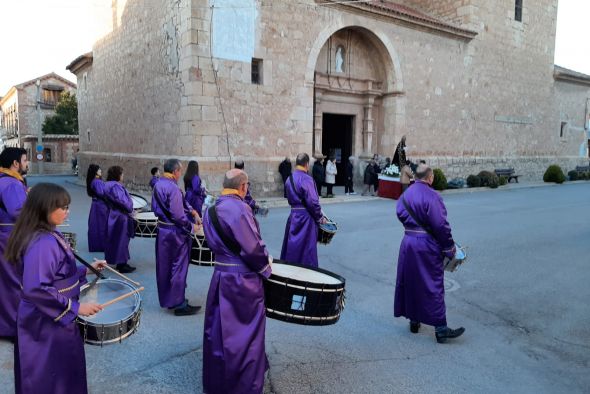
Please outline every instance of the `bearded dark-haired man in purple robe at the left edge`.
[[27, 199], [23, 175], [29, 163], [27, 151], [6, 148], [0, 153], [0, 337], [16, 337], [16, 311], [21, 298], [21, 280], [4, 251], [16, 218]]

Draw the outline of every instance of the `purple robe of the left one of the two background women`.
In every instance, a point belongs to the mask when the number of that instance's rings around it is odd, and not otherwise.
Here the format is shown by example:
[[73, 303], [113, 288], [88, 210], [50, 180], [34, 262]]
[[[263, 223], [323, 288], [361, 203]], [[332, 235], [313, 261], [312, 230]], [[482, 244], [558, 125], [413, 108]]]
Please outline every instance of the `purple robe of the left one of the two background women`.
[[104, 252], [104, 245], [107, 240], [107, 220], [109, 207], [104, 197], [104, 182], [102, 179], [94, 179], [90, 183], [92, 190], [92, 205], [88, 215], [88, 251]]

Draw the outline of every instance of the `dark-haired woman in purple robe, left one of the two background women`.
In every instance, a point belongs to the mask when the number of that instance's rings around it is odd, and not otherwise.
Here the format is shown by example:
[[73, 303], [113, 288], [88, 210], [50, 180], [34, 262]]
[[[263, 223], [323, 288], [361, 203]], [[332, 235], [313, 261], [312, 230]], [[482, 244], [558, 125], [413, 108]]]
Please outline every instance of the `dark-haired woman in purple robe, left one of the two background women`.
[[101, 168], [96, 164], [90, 164], [86, 173], [86, 193], [92, 198], [88, 215], [89, 252], [104, 252], [107, 241], [109, 207], [105, 202], [104, 186]]

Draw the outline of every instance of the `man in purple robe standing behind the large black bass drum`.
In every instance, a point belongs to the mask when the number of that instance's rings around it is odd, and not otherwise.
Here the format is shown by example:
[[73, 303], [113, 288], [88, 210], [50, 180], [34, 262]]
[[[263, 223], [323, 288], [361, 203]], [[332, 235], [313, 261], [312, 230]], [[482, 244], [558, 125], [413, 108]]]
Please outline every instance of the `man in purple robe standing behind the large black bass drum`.
[[326, 218], [316, 185], [308, 171], [309, 155], [298, 154], [292, 179], [285, 183], [291, 214], [285, 226], [281, 260], [317, 268], [318, 225], [325, 223]]

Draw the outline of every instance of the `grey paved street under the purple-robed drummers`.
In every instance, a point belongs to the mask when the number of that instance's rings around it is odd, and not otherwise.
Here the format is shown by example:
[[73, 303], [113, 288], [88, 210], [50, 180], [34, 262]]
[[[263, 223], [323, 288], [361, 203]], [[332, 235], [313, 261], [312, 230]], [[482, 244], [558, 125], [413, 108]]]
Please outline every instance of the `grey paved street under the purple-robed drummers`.
[[[74, 178], [46, 178], [66, 184]], [[40, 178], [31, 178], [31, 183]], [[71, 226], [85, 256], [90, 199], [73, 196]], [[590, 183], [445, 195], [454, 238], [469, 261], [447, 274], [449, 325], [465, 335], [439, 345], [393, 318], [403, 235], [393, 200], [334, 204], [333, 242], [320, 266], [347, 280], [333, 326], [267, 320], [273, 393], [561, 393], [590, 390]], [[260, 220], [280, 254], [287, 208]], [[99, 257], [98, 254], [96, 254]], [[92, 393], [200, 393], [203, 313], [158, 306], [154, 240], [131, 241], [132, 277], [146, 287], [139, 332], [122, 344], [86, 346]], [[187, 295], [204, 304], [212, 269], [191, 267]], [[12, 346], [0, 342], [0, 392], [12, 392]]]

